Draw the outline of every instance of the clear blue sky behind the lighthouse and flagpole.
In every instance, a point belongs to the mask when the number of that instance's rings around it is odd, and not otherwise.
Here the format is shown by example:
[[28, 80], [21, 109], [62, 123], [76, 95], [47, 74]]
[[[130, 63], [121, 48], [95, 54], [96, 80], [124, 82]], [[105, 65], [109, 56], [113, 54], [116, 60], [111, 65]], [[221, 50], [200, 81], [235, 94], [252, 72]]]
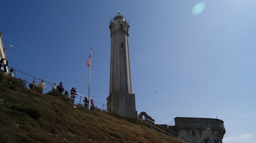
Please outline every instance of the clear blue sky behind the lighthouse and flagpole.
[[[193, 14], [204, 3], [200, 14]], [[223, 143], [256, 138], [255, 0], [1, 0], [9, 65], [106, 104], [110, 20], [130, 22], [132, 92], [138, 113], [224, 121]], [[30, 77], [17, 74], [17, 77]], [[50, 85], [47, 85], [50, 88]], [[158, 92], [158, 93], [156, 93]]]

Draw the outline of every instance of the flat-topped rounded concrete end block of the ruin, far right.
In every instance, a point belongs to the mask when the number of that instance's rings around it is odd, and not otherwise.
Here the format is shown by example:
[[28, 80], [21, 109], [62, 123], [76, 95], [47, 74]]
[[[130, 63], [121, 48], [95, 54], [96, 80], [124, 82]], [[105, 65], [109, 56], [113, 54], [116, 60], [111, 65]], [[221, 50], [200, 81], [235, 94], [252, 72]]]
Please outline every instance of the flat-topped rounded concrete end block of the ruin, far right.
[[[172, 126], [169, 126], [169, 129], [171, 128]], [[222, 143], [226, 133], [224, 122], [213, 118], [176, 117], [174, 128], [178, 138], [186, 137], [192, 143]]]

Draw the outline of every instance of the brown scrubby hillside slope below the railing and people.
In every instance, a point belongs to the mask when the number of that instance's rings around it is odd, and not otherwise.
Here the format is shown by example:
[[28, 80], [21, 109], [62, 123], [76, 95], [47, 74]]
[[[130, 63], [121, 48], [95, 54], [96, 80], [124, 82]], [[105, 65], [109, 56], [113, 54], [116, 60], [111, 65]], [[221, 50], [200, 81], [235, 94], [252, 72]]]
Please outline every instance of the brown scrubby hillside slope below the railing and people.
[[0, 83], [0, 143], [183, 143], [67, 101], [64, 95]]

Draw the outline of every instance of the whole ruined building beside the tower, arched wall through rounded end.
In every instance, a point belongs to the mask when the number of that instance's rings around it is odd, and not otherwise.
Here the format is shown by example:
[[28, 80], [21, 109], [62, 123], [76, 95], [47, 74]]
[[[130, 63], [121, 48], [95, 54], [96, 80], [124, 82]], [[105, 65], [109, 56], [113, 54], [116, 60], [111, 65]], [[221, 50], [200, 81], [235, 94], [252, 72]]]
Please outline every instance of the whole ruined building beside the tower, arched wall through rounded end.
[[140, 113], [139, 119], [143, 125], [187, 143], [222, 143], [226, 133], [224, 122], [213, 118], [176, 117], [175, 126], [155, 124], [145, 112]]

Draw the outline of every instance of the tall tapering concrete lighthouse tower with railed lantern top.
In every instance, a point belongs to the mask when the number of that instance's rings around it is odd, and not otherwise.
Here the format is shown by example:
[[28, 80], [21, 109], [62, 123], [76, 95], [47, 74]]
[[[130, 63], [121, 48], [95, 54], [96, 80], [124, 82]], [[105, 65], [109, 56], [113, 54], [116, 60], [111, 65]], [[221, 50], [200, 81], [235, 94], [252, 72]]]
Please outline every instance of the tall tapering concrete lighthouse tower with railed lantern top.
[[137, 117], [135, 94], [131, 91], [131, 72], [128, 45], [129, 22], [118, 14], [109, 23], [111, 37], [110, 85], [108, 111]]

